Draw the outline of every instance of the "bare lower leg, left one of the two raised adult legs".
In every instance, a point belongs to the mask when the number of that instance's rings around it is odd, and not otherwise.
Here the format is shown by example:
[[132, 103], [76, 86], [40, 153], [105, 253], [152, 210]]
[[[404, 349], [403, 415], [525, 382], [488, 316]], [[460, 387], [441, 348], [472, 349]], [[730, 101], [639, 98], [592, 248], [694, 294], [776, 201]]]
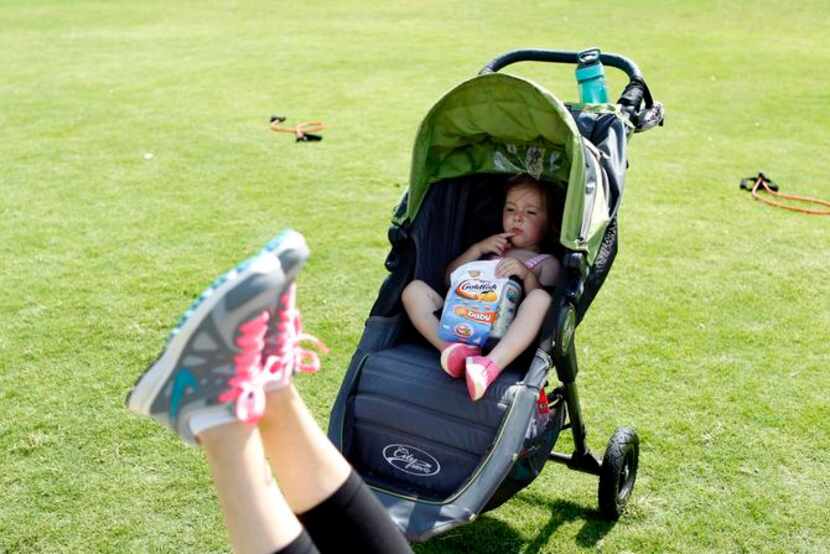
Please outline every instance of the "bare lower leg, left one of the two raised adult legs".
[[274, 552], [300, 535], [302, 526], [271, 476], [256, 427], [229, 423], [205, 430], [199, 441], [234, 552]]

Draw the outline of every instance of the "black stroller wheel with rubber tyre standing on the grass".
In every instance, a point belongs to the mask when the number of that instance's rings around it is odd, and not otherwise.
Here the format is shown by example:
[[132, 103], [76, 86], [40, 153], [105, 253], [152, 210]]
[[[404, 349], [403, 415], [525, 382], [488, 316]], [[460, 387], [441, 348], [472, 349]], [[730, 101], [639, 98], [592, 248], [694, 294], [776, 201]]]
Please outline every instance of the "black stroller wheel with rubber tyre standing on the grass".
[[608, 441], [599, 474], [599, 511], [618, 519], [631, 497], [637, 479], [640, 439], [629, 427], [620, 427]]

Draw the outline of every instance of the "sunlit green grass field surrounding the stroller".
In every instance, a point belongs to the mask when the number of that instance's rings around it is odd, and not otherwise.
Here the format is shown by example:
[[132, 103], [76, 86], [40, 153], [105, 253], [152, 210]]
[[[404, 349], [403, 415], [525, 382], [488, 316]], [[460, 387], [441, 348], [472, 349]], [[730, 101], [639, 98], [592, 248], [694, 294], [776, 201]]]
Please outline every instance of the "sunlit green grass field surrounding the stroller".
[[[325, 425], [420, 119], [504, 51], [593, 45], [667, 107], [577, 333], [590, 444], [641, 437], [630, 509], [602, 521], [595, 479], [550, 465], [416, 552], [830, 551], [830, 218], [737, 186], [830, 199], [828, 23], [821, 0], [3, 2], [0, 552], [227, 551], [201, 453], [123, 407], [181, 311], [302, 231]], [[571, 68], [517, 71], [575, 96]], [[295, 144], [272, 113], [330, 128]]]

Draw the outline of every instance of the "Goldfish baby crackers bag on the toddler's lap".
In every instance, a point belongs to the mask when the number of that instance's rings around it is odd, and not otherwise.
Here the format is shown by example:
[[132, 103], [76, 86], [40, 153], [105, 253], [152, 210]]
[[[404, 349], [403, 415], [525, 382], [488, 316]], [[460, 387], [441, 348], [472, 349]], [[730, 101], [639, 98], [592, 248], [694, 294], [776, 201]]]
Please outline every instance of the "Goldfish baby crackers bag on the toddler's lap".
[[438, 336], [448, 342], [484, 346], [504, 336], [516, 315], [522, 287], [496, 278], [498, 260], [469, 262], [450, 275]]

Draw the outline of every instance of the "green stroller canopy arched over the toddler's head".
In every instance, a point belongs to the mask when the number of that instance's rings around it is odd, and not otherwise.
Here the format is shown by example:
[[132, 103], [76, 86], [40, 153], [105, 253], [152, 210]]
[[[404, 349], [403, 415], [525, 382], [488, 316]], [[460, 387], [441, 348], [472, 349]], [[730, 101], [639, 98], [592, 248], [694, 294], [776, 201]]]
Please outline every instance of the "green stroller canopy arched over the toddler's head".
[[438, 181], [528, 173], [566, 190], [559, 240], [587, 252], [590, 263], [610, 216], [602, 172], [586, 159], [589, 148], [595, 151], [587, 142], [568, 108], [538, 84], [504, 73], [474, 77], [441, 98], [421, 123], [407, 209], [393, 223], [413, 221]]

